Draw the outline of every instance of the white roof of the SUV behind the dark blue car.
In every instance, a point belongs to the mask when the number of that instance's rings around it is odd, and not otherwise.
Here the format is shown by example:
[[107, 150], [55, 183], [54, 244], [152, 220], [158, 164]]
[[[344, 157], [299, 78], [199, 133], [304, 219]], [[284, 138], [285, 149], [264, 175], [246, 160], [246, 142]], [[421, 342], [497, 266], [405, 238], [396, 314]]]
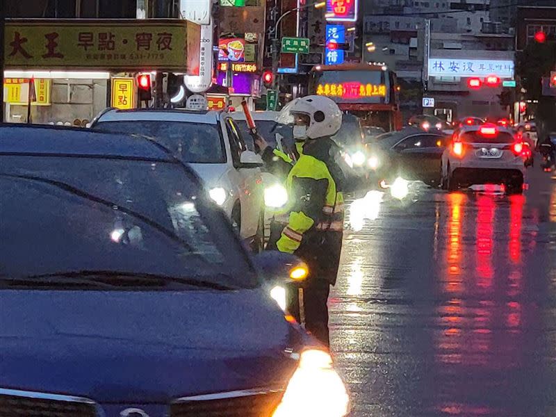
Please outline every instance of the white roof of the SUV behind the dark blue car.
[[111, 108], [101, 113], [95, 123], [99, 122], [128, 122], [139, 120], [152, 120], [164, 122], [193, 122], [204, 124], [218, 124], [222, 112], [195, 111], [181, 108], [136, 108], [132, 110], [119, 110]]

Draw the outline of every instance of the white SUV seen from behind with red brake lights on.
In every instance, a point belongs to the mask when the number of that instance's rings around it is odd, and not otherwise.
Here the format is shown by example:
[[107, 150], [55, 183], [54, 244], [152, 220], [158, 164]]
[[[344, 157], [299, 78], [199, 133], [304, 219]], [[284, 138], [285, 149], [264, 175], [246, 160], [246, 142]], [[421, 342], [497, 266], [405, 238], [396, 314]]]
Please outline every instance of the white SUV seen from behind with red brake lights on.
[[504, 184], [508, 194], [523, 193], [523, 142], [496, 124], [463, 126], [442, 155], [441, 186], [457, 190], [475, 184]]

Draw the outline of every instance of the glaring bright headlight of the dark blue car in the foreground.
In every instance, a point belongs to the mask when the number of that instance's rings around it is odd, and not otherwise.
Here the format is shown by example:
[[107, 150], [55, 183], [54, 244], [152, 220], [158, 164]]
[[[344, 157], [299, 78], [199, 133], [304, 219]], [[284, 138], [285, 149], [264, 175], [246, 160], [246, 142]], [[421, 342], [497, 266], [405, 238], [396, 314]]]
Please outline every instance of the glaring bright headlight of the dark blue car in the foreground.
[[332, 358], [324, 350], [306, 350], [272, 417], [343, 417], [350, 397]]

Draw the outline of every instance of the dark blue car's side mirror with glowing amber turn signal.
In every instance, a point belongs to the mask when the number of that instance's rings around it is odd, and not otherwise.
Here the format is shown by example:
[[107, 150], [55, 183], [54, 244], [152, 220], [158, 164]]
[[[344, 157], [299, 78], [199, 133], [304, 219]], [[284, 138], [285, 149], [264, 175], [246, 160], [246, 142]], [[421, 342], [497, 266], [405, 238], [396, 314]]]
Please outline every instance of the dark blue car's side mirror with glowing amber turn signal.
[[307, 264], [293, 254], [266, 250], [256, 254], [253, 261], [267, 284], [299, 284], [309, 275]]

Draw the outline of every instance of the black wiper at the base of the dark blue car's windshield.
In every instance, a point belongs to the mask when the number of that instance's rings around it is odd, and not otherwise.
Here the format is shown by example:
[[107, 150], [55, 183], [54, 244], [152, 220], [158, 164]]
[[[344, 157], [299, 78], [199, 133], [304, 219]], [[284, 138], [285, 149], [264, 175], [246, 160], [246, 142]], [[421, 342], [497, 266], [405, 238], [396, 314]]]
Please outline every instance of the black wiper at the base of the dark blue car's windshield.
[[[212, 276], [212, 275], [211, 275]], [[215, 274], [215, 277], [231, 278], [224, 274]], [[198, 277], [198, 279], [196, 278]], [[75, 284], [97, 284], [106, 287], [134, 287], [134, 286], [167, 286], [169, 283], [183, 284], [186, 286], [195, 286], [199, 288], [211, 288], [218, 291], [236, 290], [238, 287], [219, 284], [214, 281], [203, 279], [206, 277], [193, 275], [191, 278], [174, 277], [173, 275], [151, 274], [147, 272], [128, 272], [113, 270], [76, 270], [76, 271], [60, 271], [48, 274], [29, 275], [21, 279], [15, 278], [13, 281], [28, 282], [32, 284], [56, 284], [60, 282], [68, 282]], [[71, 281], [70, 281], [71, 280]]]

